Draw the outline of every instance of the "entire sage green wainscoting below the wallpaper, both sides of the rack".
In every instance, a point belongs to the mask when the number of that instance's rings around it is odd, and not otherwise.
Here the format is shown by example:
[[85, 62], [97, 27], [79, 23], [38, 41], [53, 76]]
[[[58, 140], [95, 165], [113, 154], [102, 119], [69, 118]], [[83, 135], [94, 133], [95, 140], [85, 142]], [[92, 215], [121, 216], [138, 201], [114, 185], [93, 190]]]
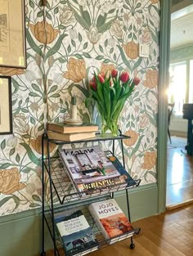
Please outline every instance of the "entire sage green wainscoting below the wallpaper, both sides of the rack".
[[[156, 184], [139, 186], [128, 191], [132, 222], [158, 213]], [[115, 199], [127, 213], [125, 191], [116, 193]], [[0, 218], [0, 255], [36, 256], [41, 250], [41, 210], [29, 210]], [[46, 249], [52, 240], [46, 232]]]

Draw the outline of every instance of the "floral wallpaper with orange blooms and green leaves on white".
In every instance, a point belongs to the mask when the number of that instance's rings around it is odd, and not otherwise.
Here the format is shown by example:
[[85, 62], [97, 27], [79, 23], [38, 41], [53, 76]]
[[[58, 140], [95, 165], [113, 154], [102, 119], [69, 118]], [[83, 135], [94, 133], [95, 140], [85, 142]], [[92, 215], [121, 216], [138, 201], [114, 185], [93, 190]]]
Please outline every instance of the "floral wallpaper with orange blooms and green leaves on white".
[[[14, 131], [0, 136], [1, 215], [41, 205], [43, 129], [70, 114], [73, 94], [83, 120], [99, 122], [95, 106], [84, 104], [94, 70], [141, 79], [119, 126], [131, 137], [123, 143], [128, 172], [141, 184], [156, 182], [159, 9], [158, 0], [25, 1], [27, 70], [0, 68], [12, 76]], [[149, 57], [139, 56], [138, 43], [149, 45]], [[115, 150], [120, 157], [119, 142]]]

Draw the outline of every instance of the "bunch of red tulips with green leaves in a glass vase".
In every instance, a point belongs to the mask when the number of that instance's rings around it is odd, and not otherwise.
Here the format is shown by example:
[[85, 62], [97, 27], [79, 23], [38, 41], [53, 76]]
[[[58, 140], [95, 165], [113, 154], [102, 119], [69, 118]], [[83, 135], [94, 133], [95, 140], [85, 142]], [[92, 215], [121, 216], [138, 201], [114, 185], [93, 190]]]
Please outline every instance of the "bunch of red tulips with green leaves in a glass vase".
[[101, 116], [102, 132], [110, 129], [113, 135], [119, 131], [118, 119], [125, 102], [131, 96], [138, 78], [130, 78], [128, 72], [112, 70], [111, 74], [94, 73], [90, 82], [90, 97], [96, 101]]

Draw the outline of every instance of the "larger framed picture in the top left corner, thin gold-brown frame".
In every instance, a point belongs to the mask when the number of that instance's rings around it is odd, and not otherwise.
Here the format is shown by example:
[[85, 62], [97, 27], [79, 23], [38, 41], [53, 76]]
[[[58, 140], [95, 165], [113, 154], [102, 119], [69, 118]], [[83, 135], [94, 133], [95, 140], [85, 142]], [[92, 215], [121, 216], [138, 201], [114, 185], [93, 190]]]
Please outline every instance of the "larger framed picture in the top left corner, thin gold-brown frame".
[[0, 66], [26, 68], [25, 0], [0, 0]]

